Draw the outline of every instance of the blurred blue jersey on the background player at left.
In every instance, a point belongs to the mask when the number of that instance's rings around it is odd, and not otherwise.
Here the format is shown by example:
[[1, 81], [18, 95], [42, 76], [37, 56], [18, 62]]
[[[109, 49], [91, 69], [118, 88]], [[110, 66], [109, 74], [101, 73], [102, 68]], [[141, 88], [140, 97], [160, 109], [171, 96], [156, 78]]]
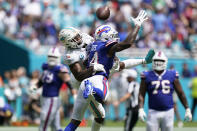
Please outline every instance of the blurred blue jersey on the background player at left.
[[58, 77], [59, 72], [67, 72], [67, 68], [64, 65], [57, 65], [49, 67], [48, 64], [42, 65], [43, 75], [43, 91], [44, 97], [56, 97], [59, 95], [59, 90], [63, 84], [63, 81]]

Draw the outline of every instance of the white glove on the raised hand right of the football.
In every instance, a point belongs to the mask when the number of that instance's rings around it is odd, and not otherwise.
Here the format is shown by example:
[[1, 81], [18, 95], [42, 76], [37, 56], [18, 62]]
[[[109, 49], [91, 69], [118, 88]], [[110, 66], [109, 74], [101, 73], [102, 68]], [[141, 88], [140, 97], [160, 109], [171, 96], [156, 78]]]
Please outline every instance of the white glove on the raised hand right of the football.
[[141, 10], [138, 16], [136, 18], [131, 17], [131, 20], [134, 22], [135, 25], [141, 26], [144, 21], [148, 20], [146, 11]]

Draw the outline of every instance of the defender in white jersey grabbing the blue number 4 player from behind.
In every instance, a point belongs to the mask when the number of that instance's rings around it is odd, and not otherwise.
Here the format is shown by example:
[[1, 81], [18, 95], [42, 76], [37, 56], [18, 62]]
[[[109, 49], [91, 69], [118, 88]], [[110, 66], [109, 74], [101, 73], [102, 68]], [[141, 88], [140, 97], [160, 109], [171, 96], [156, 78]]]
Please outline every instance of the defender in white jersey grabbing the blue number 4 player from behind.
[[[139, 22], [141, 24], [144, 20], [145, 19], [140, 21], [139, 19], [135, 19], [134, 21]], [[133, 37], [135, 36], [136, 34]], [[84, 52], [85, 49], [83, 47], [85, 47], [85, 45], [87, 45], [88, 43], [84, 43], [83, 34], [79, 30], [74, 29], [72, 27], [65, 28], [60, 31], [59, 39], [62, 43], [64, 43], [66, 49], [69, 50], [65, 54], [65, 61], [69, 65], [71, 72], [78, 81], [82, 81], [85, 78], [92, 76], [99, 70], [105, 72], [105, 70], [103, 70], [103, 65], [100, 64], [93, 64], [93, 66], [90, 66], [88, 69], [84, 68], [84, 70], [82, 70], [80, 63], [82, 63], [83, 60], [85, 60], [85, 56], [87, 55], [86, 52]], [[122, 62], [117, 61], [114, 64], [115, 69], [119, 71], [121, 69], [130, 68], [132, 66], [136, 66], [139, 64], [150, 63], [152, 61], [153, 55], [154, 51], [150, 50], [145, 59], [128, 59]], [[72, 120], [67, 126], [66, 130], [75, 130], [80, 124], [85, 112], [83, 103], [85, 104], [87, 102], [86, 99], [84, 99], [83, 97], [82, 89], [79, 89], [78, 96], [74, 104], [74, 113], [72, 115]], [[100, 124], [97, 121], [94, 121], [94, 123], [97, 124], [93, 124], [92, 130], [99, 130]]]

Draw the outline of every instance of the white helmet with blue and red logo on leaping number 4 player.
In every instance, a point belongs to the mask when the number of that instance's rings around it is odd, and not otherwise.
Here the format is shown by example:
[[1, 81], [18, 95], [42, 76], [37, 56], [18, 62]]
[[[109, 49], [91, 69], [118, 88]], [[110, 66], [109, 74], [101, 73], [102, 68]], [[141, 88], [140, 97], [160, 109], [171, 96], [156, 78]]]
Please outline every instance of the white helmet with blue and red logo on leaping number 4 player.
[[117, 41], [119, 42], [120, 38], [118, 32], [110, 25], [101, 25], [95, 31], [95, 39], [101, 41]]

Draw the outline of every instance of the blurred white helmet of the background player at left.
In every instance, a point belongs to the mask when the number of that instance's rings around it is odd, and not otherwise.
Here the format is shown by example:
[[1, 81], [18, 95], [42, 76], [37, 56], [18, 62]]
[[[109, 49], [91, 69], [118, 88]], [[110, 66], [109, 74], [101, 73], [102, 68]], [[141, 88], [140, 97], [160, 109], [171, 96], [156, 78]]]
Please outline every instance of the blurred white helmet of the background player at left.
[[49, 66], [60, 65], [61, 54], [60, 54], [59, 49], [57, 47], [50, 48], [47, 57], [48, 57], [47, 63]]

